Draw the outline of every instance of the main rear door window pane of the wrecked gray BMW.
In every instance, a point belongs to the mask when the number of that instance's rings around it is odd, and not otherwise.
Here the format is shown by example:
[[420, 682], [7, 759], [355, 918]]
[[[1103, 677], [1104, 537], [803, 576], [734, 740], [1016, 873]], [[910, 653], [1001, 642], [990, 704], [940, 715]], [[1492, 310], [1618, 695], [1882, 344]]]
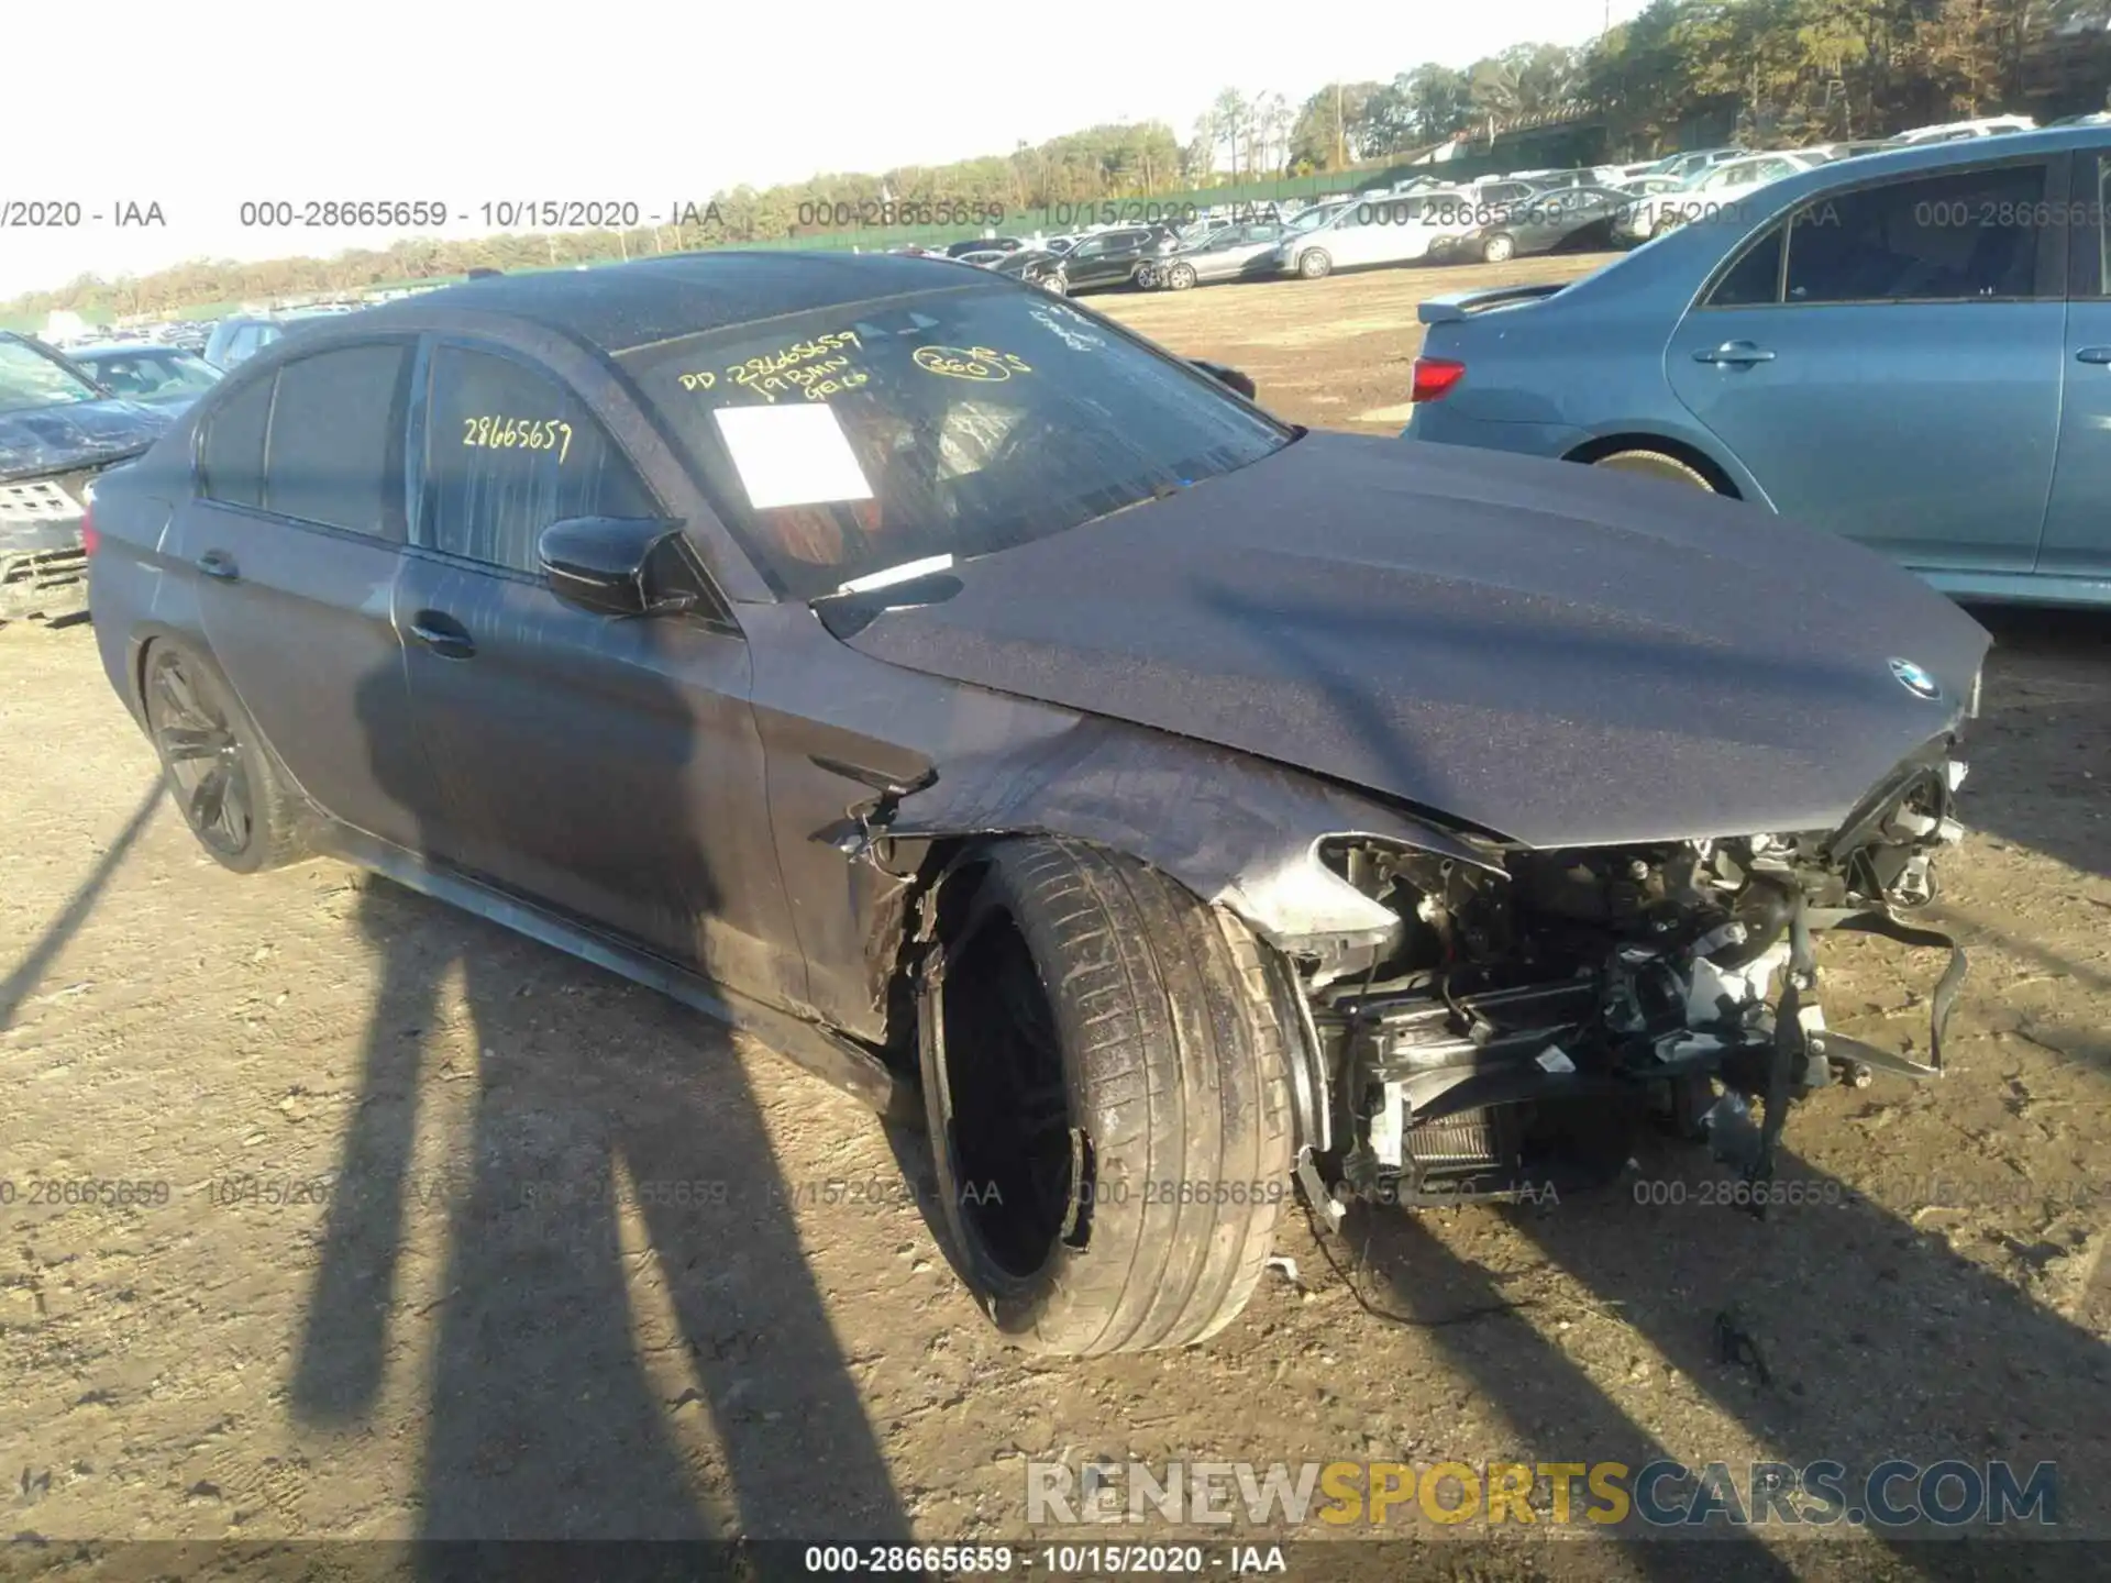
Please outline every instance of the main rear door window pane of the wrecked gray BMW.
[[264, 509], [355, 534], [403, 536], [410, 346], [346, 346], [279, 369]]

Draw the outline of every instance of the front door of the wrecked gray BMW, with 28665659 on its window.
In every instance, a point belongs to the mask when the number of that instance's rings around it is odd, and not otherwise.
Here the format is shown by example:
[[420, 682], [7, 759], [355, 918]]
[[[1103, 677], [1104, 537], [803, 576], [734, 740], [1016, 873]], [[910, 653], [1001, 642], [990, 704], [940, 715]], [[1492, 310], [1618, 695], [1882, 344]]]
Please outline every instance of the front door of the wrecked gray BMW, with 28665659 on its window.
[[[505, 443], [526, 424], [557, 443]], [[496, 346], [429, 348], [420, 428], [403, 631], [445, 794], [429, 851], [737, 990], [804, 990], [730, 616], [600, 616], [540, 576], [553, 521], [661, 502], [574, 388]]]

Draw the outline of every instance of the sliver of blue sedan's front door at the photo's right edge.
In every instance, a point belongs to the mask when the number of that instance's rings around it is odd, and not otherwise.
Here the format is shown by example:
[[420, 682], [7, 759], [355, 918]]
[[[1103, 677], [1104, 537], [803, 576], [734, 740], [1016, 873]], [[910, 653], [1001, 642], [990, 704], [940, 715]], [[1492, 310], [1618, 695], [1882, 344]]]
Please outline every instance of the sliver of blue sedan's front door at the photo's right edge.
[[2075, 156], [2067, 397], [2037, 570], [2111, 576], [2111, 150]]

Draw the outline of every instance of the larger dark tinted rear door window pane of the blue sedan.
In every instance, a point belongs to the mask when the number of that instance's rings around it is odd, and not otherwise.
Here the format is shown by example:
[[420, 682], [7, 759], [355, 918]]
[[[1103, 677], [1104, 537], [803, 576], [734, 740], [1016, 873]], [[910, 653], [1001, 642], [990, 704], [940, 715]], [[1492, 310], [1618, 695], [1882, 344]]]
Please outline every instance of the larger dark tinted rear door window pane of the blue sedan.
[[1788, 300], [2031, 298], [2046, 173], [2010, 165], [1815, 198], [1794, 217]]

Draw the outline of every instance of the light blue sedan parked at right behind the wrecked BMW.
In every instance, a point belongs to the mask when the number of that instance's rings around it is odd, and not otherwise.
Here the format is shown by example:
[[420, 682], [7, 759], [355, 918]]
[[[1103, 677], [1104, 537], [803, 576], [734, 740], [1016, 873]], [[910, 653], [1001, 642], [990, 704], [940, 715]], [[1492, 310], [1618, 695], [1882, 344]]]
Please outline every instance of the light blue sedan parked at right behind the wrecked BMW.
[[2107, 205], [2105, 127], [1792, 175], [1571, 285], [1425, 302], [1406, 437], [1739, 496], [1961, 597], [2111, 606]]

